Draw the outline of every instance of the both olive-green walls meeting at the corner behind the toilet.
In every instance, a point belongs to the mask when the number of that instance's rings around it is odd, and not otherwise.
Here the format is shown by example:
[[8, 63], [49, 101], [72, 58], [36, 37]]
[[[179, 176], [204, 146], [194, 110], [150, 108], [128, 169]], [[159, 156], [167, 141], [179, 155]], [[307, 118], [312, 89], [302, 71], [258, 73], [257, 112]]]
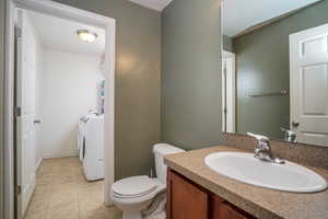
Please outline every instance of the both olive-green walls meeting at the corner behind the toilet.
[[[149, 174], [161, 134], [161, 13], [126, 0], [56, 1], [117, 20], [116, 178]], [[162, 140], [186, 149], [221, 139], [219, 2], [175, 0], [162, 18]]]

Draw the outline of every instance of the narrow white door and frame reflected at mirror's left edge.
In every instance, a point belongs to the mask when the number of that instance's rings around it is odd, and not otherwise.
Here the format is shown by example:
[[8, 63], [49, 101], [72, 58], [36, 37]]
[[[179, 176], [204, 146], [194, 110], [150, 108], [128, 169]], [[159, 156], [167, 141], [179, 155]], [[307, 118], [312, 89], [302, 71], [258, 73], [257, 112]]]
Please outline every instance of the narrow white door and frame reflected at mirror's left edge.
[[235, 131], [235, 55], [222, 53], [222, 130]]

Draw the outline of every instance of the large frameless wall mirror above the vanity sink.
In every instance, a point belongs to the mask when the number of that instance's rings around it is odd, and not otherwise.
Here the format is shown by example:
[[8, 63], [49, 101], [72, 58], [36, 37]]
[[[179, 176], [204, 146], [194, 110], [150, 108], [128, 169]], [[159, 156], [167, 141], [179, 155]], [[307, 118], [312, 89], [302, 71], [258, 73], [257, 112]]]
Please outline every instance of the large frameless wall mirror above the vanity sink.
[[328, 147], [328, 0], [222, 2], [223, 130]]

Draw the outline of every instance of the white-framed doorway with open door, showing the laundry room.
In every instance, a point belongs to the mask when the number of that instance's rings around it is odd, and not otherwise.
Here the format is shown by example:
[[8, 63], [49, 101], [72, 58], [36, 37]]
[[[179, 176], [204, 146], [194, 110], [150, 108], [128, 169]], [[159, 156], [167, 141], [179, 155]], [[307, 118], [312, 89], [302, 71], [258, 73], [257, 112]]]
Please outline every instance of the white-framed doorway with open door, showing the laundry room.
[[113, 214], [115, 20], [51, 1], [8, 11], [5, 216]]

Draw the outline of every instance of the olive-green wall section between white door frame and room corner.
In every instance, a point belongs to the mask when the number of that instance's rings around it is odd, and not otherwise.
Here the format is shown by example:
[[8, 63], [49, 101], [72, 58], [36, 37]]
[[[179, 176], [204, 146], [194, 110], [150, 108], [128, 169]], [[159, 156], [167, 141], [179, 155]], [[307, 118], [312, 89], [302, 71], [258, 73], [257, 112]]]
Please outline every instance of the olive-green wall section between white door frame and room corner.
[[126, 0], [56, 0], [116, 19], [116, 178], [149, 174], [160, 141], [161, 13]]

